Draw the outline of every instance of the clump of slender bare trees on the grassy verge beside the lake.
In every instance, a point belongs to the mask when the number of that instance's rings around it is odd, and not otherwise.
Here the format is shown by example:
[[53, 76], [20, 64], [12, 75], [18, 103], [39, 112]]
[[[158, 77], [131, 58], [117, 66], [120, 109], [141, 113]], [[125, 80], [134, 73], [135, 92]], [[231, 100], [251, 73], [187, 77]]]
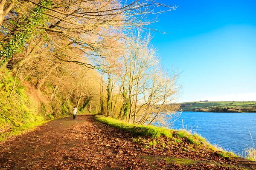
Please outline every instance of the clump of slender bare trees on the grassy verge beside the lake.
[[[158, 125], [166, 125], [179, 108], [179, 105], [172, 104], [180, 88], [177, 85], [179, 75], [177, 72], [164, 71], [155, 55], [155, 49], [149, 45], [149, 36], [144, 37], [141, 31], [135, 35], [127, 40], [126, 51], [119, 57], [119, 64], [112, 65], [111, 74], [108, 73], [109, 113], [113, 113], [111, 109], [115, 94], [122, 96], [119, 119], [127, 116], [127, 121], [131, 123], [157, 122]], [[119, 77], [115, 80], [119, 91], [115, 93], [111, 88], [114, 77]], [[113, 114], [108, 116], [113, 117]]]

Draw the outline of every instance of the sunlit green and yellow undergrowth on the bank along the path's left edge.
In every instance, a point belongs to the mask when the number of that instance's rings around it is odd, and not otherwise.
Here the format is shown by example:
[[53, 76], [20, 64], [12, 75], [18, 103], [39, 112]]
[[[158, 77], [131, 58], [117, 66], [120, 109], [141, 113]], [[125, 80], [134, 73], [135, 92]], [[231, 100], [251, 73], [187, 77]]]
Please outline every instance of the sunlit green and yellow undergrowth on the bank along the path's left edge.
[[61, 99], [58, 98], [49, 103], [41, 102], [23, 85], [15, 88], [9, 96], [13, 82], [12, 71], [0, 68], [0, 140], [22, 134], [47, 120], [71, 116], [73, 106], [70, 102], [60, 105]]

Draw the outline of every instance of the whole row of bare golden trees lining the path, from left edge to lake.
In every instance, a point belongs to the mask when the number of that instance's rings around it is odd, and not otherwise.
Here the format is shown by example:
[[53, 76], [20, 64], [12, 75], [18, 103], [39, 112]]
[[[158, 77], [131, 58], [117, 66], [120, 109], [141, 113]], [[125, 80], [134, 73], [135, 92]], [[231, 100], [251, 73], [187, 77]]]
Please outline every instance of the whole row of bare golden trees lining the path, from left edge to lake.
[[160, 64], [148, 18], [175, 8], [152, 0], [1, 0], [0, 66], [15, 77], [9, 97], [28, 81], [60, 105], [165, 125], [178, 109], [178, 73]]

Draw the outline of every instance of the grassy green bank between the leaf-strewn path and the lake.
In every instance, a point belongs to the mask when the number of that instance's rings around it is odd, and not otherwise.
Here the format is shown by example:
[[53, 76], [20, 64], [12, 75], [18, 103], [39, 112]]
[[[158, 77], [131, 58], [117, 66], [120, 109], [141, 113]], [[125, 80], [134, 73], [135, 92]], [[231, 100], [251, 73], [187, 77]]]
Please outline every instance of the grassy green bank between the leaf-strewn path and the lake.
[[[134, 136], [134, 142], [145, 141], [147, 138], [152, 138], [152, 140], [147, 140], [148, 143], [146, 146], [151, 146], [154, 144], [161, 144], [164, 147], [163, 140], [159, 140], [161, 137], [165, 137], [169, 143], [179, 143], [181, 144], [180, 147], [183, 150], [195, 150], [201, 149], [206, 147], [207, 149], [211, 150], [212, 152], [216, 152], [218, 156], [221, 157], [237, 157], [232, 152], [226, 152], [219, 148], [216, 148], [212, 144], [206, 142], [206, 140], [199, 136], [198, 134], [190, 134], [186, 130], [173, 130], [173, 129], [166, 129], [163, 127], [155, 127], [155, 126], [148, 126], [148, 125], [134, 125], [128, 124], [125, 122], [121, 122], [116, 119], [108, 118], [101, 115], [96, 115], [95, 119], [99, 122], [105, 123], [107, 125], [113, 126], [117, 129], [127, 131]], [[162, 141], [162, 142], [160, 142]], [[189, 145], [187, 145], [189, 144]], [[183, 146], [184, 145], [184, 146]]]

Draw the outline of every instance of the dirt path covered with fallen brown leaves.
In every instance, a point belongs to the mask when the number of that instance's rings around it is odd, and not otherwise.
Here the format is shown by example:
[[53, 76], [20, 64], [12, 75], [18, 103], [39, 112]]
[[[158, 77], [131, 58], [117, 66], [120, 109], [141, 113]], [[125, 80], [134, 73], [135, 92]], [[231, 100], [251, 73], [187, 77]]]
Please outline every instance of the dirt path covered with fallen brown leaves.
[[134, 142], [131, 134], [99, 123], [93, 115], [57, 119], [1, 143], [0, 169], [256, 169], [253, 161], [224, 159], [208, 150], [184, 150], [170, 142], [165, 147], [148, 146], [153, 139], [145, 140]]

